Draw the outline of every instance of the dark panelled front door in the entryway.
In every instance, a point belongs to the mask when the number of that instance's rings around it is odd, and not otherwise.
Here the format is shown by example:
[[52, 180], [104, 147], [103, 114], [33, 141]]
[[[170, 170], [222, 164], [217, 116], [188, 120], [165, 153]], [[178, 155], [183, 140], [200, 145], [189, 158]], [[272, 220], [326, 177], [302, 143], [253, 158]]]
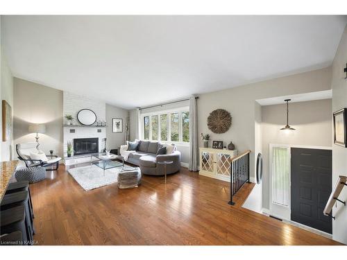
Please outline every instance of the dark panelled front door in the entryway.
[[291, 220], [332, 234], [323, 209], [332, 189], [332, 151], [291, 148]]

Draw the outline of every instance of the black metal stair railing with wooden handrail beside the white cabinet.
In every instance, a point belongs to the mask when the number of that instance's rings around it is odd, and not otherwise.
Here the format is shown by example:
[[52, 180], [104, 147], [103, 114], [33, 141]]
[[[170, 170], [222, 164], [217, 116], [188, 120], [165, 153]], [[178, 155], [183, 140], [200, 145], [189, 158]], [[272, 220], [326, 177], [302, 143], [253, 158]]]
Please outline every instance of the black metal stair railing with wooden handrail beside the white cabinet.
[[230, 201], [229, 205], [235, 205], [232, 201], [232, 196], [241, 189], [241, 187], [249, 182], [249, 154], [251, 150], [246, 150], [246, 152], [241, 155], [237, 155], [230, 159]]

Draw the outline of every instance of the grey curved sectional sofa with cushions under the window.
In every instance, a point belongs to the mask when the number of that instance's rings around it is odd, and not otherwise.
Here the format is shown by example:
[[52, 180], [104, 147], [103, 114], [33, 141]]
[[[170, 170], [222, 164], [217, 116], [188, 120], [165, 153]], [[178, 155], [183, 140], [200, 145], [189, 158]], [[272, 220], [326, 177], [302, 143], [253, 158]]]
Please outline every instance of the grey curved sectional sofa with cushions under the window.
[[135, 164], [141, 169], [141, 173], [146, 175], [164, 175], [164, 165], [157, 162], [172, 161], [173, 164], [167, 165], [167, 174], [180, 171], [180, 152], [174, 150], [169, 155], [156, 155], [158, 148], [162, 144], [152, 141], [139, 141], [137, 150], [129, 151], [128, 146], [121, 146], [120, 154], [126, 162]]

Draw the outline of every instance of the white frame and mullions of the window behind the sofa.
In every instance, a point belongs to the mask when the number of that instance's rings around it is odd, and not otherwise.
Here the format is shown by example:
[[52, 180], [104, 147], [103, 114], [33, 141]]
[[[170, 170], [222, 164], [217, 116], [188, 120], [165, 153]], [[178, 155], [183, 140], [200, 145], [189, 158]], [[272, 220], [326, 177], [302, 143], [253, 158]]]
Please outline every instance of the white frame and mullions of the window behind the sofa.
[[[178, 107], [171, 110], [160, 110], [141, 114], [141, 139], [144, 139], [144, 117], [149, 116], [149, 141], [160, 141], [163, 144], [176, 144], [178, 146], [189, 146], [189, 142], [183, 141], [182, 112], [189, 112], [189, 107]], [[171, 141], [171, 114], [178, 113], [178, 137], [179, 141]], [[167, 114], [167, 141], [161, 140], [160, 115]], [[152, 116], [158, 116], [158, 140], [152, 140]], [[190, 122], [189, 122], [190, 123]], [[190, 141], [190, 140], [189, 140]]]

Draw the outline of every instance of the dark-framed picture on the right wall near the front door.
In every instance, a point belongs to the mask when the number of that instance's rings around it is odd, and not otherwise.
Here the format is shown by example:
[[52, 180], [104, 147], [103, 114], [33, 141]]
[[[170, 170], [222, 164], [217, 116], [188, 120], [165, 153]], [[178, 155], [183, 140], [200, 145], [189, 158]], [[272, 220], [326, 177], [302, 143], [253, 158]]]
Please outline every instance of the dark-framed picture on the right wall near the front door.
[[334, 144], [347, 148], [347, 132], [346, 132], [346, 115], [347, 108], [334, 112]]

